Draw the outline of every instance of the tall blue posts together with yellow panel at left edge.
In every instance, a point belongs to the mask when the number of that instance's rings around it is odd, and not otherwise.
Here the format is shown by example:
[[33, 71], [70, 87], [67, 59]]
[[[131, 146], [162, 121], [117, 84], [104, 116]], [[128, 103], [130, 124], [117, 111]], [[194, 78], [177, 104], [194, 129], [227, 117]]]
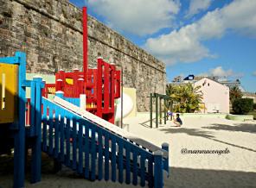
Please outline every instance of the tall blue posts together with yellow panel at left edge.
[[[0, 58], [1, 75], [1, 109], [0, 133], [4, 128], [11, 131], [10, 135], [1, 135], [3, 140], [14, 138], [14, 187], [24, 187], [24, 162], [26, 136], [33, 141], [31, 183], [41, 179], [41, 107], [42, 78], [26, 80], [26, 55], [17, 52], [14, 57]], [[31, 88], [30, 122], [25, 128], [26, 87]], [[0, 142], [0, 151], [5, 145]]]

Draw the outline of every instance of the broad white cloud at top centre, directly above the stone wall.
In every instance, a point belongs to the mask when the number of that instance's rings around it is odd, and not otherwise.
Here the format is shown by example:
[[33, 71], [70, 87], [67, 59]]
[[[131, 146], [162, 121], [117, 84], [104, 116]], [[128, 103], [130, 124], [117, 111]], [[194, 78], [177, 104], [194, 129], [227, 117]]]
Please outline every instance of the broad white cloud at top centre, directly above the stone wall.
[[131, 34], [154, 34], [171, 28], [179, 12], [178, 0], [89, 0], [89, 7], [108, 25]]

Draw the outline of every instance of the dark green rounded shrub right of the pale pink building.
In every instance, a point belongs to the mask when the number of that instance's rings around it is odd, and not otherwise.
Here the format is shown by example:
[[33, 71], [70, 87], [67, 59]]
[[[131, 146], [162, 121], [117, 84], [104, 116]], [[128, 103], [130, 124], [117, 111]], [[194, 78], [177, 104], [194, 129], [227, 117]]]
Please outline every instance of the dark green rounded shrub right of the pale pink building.
[[234, 99], [232, 106], [233, 106], [234, 114], [245, 115], [249, 111], [253, 110], [253, 99], [237, 98], [237, 99]]

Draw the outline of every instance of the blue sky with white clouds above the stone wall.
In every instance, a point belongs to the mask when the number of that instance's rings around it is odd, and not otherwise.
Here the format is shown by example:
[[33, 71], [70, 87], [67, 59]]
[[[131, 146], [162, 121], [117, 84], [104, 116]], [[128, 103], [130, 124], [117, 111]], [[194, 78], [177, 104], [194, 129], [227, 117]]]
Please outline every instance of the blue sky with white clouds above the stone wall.
[[70, 0], [166, 64], [256, 92], [256, 0]]

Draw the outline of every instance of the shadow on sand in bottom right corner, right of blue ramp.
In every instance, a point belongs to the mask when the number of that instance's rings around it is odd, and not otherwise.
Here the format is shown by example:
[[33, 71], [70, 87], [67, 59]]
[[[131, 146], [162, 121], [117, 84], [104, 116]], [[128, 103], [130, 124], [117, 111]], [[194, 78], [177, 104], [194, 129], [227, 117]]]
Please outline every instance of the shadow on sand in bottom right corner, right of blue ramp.
[[164, 187], [255, 187], [255, 172], [170, 168]]

